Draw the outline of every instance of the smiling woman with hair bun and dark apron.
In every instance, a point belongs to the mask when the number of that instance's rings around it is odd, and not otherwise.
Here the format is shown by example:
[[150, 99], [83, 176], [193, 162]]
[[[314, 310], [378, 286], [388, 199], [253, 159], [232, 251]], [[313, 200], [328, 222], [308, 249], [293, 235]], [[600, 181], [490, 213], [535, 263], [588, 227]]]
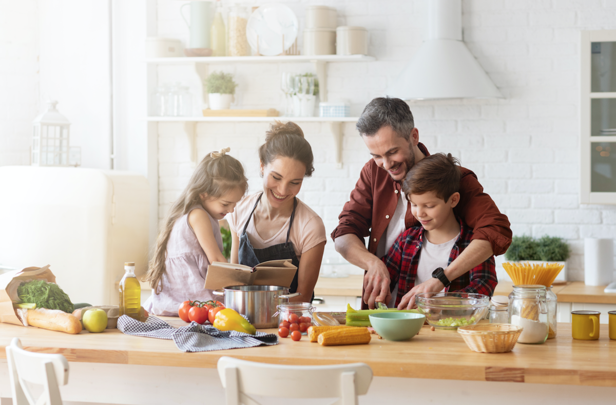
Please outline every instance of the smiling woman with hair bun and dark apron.
[[326, 235], [323, 220], [296, 198], [314, 171], [312, 148], [294, 122], [275, 121], [259, 147], [263, 191], [247, 196], [230, 214], [231, 262], [254, 267], [290, 259], [298, 267], [291, 301], [314, 298]]

